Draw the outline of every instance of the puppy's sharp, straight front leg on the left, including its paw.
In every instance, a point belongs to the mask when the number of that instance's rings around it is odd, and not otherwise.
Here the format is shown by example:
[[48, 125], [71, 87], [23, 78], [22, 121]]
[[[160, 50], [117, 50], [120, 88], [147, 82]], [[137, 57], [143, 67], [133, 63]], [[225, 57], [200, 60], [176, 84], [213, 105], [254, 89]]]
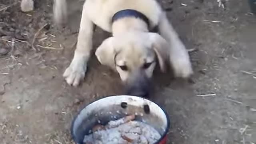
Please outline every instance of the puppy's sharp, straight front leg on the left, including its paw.
[[70, 66], [66, 69], [63, 76], [68, 84], [78, 86], [80, 80], [84, 79], [87, 62], [92, 49], [93, 23], [88, 18], [85, 7], [82, 11], [78, 41], [74, 58]]

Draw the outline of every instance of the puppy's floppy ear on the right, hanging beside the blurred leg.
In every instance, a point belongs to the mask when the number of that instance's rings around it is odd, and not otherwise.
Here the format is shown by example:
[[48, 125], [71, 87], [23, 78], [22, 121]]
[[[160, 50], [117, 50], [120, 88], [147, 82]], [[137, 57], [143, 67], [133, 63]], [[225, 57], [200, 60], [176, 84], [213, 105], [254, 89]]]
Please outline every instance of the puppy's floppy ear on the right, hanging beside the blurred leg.
[[154, 49], [162, 72], [166, 72], [166, 61], [169, 60], [169, 44], [157, 33], [149, 33], [151, 48]]

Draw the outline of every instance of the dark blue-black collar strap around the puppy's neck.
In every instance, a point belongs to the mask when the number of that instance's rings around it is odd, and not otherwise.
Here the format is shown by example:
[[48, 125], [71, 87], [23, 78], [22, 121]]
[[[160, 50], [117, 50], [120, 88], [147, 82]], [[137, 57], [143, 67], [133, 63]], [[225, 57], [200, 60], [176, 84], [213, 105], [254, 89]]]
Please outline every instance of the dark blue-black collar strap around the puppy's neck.
[[119, 20], [119, 19], [125, 18], [125, 17], [140, 18], [141, 20], [146, 22], [148, 27], [150, 26], [149, 25], [149, 20], [144, 14], [142, 14], [141, 12], [138, 12], [136, 10], [130, 10], [130, 9], [120, 10], [120, 11], [116, 12], [114, 14], [114, 16], [112, 17], [112, 23], [115, 22], [116, 20]]

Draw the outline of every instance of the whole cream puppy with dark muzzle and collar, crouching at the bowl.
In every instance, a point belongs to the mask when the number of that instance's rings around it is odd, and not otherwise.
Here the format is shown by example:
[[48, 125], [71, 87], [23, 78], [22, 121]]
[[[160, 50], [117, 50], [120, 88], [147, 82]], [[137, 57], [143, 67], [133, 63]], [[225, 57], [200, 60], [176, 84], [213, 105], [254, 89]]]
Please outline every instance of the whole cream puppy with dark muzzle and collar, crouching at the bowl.
[[[54, 20], [67, 22], [66, 0], [54, 1]], [[128, 94], [147, 96], [158, 62], [162, 72], [172, 66], [176, 77], [193, 74], [188, 52], [156, 0], [86, 0], [74, 57], [63, 76], [72, 86], [84, 79], [92, 50], [94, 24], [112, 33], [96, 49], [102, 65], [120, 75]], [[155, 27], [158, 33], [151, 32]]]

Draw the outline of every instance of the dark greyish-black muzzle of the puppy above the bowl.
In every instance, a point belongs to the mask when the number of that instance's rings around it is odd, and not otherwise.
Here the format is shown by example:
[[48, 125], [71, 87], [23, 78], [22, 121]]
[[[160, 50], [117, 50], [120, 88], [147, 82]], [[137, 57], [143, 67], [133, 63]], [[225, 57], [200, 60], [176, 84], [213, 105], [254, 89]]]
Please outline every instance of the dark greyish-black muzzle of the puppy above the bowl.
[[126, 81], [126, 90], [128, 95], [148, 97], [150, 89], [151, 80], [142, 72], [136, 72]]

